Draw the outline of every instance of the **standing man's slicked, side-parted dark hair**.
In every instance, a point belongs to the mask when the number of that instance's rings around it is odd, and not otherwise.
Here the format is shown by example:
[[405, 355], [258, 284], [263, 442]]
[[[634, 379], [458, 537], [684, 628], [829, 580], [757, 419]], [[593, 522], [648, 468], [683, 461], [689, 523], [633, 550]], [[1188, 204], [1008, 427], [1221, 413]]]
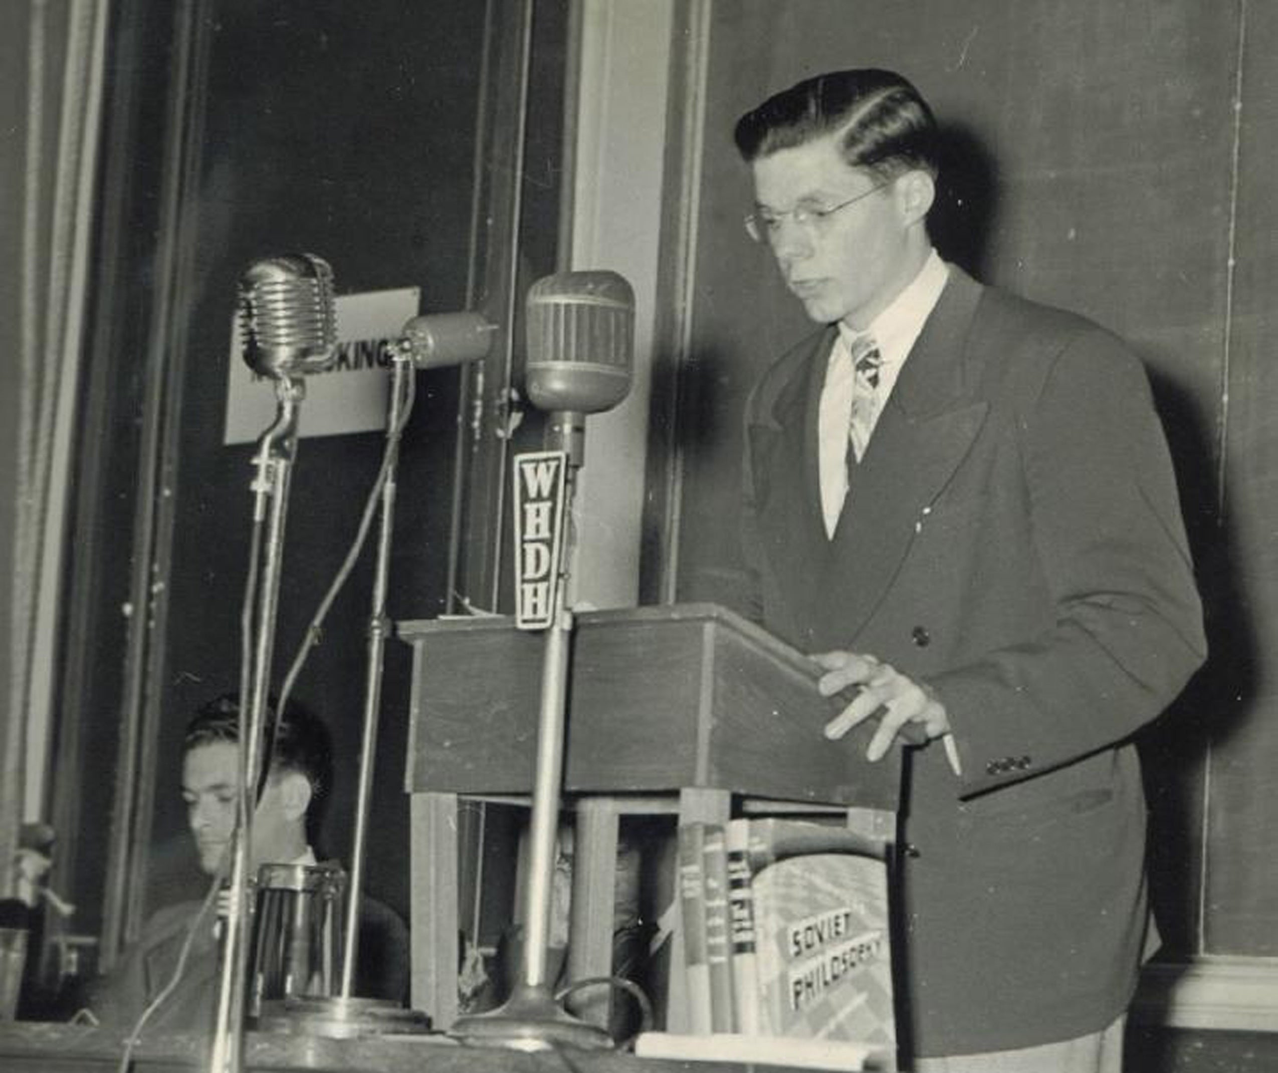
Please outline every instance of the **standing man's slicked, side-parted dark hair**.
[[836, 70], [768, 97], [736, 123], [749, 164], [780, 150], [836, 134], [850, 168], [882, 179], [938, 173], [937, 124], [910, 82], [891, 70]]

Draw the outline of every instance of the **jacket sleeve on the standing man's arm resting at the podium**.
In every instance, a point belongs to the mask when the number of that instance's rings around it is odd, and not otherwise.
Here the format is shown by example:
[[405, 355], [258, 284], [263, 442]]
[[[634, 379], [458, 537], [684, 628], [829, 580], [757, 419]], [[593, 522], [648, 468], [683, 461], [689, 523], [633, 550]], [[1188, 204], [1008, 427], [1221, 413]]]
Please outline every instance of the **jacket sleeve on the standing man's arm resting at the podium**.
[[[929, 679], [960, 747], [964, 795], [1128, 737], [1174, 700], [1206, 651], [1139, 361], [1099, 329], [1080, 333], [1016, 434], [1054, 624]], [[996, 756], [1033, 764], [989, 770]]]

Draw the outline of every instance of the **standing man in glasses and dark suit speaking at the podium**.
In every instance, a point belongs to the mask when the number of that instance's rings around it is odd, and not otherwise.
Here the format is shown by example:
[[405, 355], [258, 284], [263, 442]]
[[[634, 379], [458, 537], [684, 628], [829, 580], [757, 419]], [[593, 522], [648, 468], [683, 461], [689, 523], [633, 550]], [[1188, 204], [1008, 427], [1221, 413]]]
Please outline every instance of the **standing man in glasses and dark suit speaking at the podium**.
[[746, 228], [822, 326], [746, 407], [746, 560], [842, 698], [826, 737], [909, 752], [906, 1064], [1117, 1069], [1148, 943], [1131, 738], [1205, 656], [1144, 372], [938, 257], [935, 124], [900, 75], [801, 82], [736, 145]]

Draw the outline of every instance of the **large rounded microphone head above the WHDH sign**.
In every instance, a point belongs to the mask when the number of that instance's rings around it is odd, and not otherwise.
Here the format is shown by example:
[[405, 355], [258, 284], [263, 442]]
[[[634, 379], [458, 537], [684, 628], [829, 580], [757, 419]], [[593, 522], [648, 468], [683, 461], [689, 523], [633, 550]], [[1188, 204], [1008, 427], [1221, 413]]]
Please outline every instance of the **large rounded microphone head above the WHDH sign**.
[[635, 295], [603, 269], [544, 276], [528, 290], [525, 388], [543, 411], [598, 413], [630, 390]]

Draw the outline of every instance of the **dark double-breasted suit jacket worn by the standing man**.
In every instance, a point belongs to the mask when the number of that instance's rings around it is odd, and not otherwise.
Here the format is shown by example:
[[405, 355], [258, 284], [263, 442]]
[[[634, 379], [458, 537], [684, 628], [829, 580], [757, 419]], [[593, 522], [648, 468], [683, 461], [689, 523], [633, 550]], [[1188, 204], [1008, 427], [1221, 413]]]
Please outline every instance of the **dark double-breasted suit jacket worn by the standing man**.
[[745, 549], [772, 632], [870, 652], [950, 714], [962, 778], [939, 743], [907, 769], [902, 1027], [921, 1055], [1099, 1030], [1145, 936], [1131, 735], [1205, 656], [1144, 371], [1095, 325], [951, 269], [828, 540], [833, 339], [750, 396]]

